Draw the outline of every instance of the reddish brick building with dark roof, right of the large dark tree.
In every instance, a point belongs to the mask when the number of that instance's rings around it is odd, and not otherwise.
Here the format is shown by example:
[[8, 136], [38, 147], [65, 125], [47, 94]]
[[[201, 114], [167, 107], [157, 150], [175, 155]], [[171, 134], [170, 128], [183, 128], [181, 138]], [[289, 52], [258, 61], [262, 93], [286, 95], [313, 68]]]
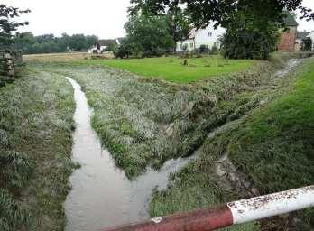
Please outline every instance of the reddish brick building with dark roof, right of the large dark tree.
[[295, 51], [295, 42], [297, 40], [298, 23], [292, 14], [287, 14], [285, 19], [288, 31], [282, 32], [278, 44], [279, 51]]

